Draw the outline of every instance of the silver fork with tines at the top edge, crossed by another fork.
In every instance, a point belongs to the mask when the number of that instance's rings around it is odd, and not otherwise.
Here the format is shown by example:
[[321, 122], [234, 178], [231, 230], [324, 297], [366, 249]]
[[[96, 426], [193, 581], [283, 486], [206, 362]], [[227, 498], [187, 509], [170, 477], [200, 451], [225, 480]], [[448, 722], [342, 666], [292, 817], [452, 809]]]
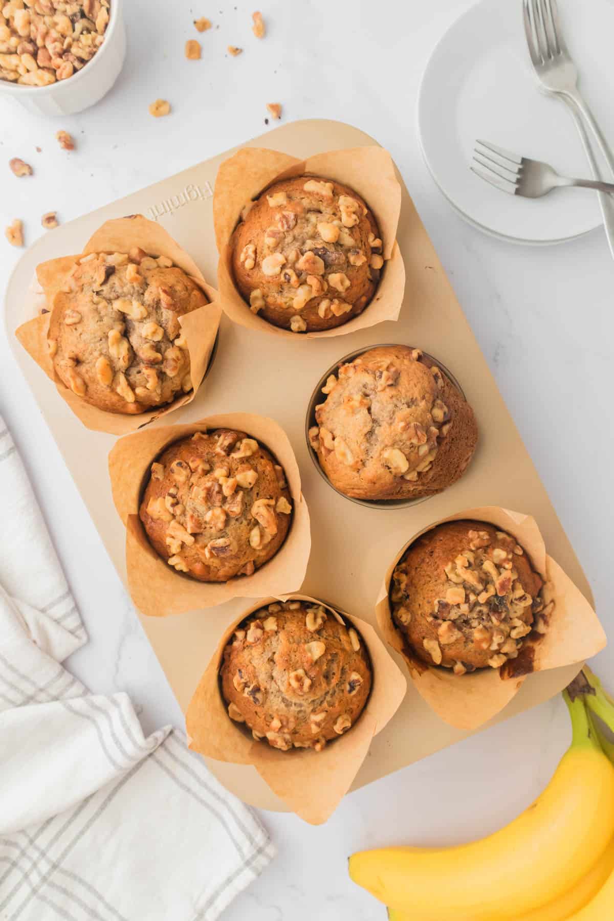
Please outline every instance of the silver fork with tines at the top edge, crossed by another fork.
[[[568, 106], [595, 179], [600, 180], [601, 173], [586, 134], [585, 123], [595, 135], [614, 176], [612, 151], [577, 87], [578, 71], [562, 37], [556, 0], [523, 0], [523, 16], [528, 51], [541, 87], [551, 96], [562, 99]], [[609, 249], [614, 256], [614, 202], [608, 195], [599, 193], [599, 204]]]

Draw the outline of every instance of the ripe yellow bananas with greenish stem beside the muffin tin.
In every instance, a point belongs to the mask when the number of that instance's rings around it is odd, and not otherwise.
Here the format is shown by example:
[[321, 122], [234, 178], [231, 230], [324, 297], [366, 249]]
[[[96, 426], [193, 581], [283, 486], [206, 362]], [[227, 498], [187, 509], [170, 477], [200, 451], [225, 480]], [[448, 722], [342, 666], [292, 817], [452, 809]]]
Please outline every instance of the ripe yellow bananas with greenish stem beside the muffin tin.
[[563, 697], [572, 744], [514, 822], [469, 845], [350, 857], [390, 921], [614, 921], [614, 700], [587, 668]]

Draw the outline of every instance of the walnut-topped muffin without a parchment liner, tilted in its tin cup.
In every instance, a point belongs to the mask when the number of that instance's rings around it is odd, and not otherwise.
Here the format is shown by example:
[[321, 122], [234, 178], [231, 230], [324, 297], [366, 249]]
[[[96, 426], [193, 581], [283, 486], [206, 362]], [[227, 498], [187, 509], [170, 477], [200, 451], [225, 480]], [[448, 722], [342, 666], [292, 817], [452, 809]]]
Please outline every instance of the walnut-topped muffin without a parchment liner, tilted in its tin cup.
[[478, 440], [473, 411], [420, 349], [369, 349], [331, 374], [322, 392], [309, 441], [344, 495], [434, 495], [465, 472]]

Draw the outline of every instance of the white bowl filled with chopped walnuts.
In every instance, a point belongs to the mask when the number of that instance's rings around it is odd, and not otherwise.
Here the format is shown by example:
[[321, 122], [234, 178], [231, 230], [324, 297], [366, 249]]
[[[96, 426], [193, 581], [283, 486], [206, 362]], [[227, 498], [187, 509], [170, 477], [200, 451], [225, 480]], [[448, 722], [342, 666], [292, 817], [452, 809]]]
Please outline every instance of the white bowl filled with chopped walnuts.
[[122, 0], [7, 0], [0, 9], [0, 93], [36, 114], [94, 105], [125, 51]]

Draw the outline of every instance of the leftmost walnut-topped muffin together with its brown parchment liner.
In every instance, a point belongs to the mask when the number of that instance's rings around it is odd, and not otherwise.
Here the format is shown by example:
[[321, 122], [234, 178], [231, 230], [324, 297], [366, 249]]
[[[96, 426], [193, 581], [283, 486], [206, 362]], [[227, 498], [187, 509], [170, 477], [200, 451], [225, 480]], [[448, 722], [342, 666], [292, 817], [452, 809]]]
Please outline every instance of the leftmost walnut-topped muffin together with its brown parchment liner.
[[37, 277], [48, 312], [16, 335], [87, 428], [123, 435], [191, 402], [221, 309], [166, 230], [141, 215], [107, 221], [82, 253], [42, 262]]

